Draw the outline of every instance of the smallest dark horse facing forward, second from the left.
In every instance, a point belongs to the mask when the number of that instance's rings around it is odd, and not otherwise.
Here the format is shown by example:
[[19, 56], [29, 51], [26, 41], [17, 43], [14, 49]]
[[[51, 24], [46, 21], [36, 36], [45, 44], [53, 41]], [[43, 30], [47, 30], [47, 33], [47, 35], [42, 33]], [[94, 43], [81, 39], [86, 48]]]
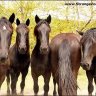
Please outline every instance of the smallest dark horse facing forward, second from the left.
[[20, 73], [22, 74], [22, 81], [20, 83], [21, 94], [23, 94], [25, 87], [25, 78], [28, 73], [30, 64], [29, 53], [29, 24], [30, 20], [27, 19], [26, 23], [20, 23], [16, 19], [16, 42], [9, 50], [10, 69], [7, 71], [7, 93], [10, 94], [10, 77], [11, 77], [11, 90], [12, 94], [17, 94], [16, 84]]

